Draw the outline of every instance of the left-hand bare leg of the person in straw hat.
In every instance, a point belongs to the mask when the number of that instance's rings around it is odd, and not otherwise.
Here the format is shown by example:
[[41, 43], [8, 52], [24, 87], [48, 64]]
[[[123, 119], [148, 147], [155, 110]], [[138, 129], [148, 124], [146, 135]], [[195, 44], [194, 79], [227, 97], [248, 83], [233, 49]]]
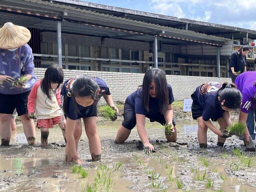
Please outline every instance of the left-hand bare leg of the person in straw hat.
[[0, 138], [1, 145], [8, 146], [11, 137], [11, 114], [0, 113]]

